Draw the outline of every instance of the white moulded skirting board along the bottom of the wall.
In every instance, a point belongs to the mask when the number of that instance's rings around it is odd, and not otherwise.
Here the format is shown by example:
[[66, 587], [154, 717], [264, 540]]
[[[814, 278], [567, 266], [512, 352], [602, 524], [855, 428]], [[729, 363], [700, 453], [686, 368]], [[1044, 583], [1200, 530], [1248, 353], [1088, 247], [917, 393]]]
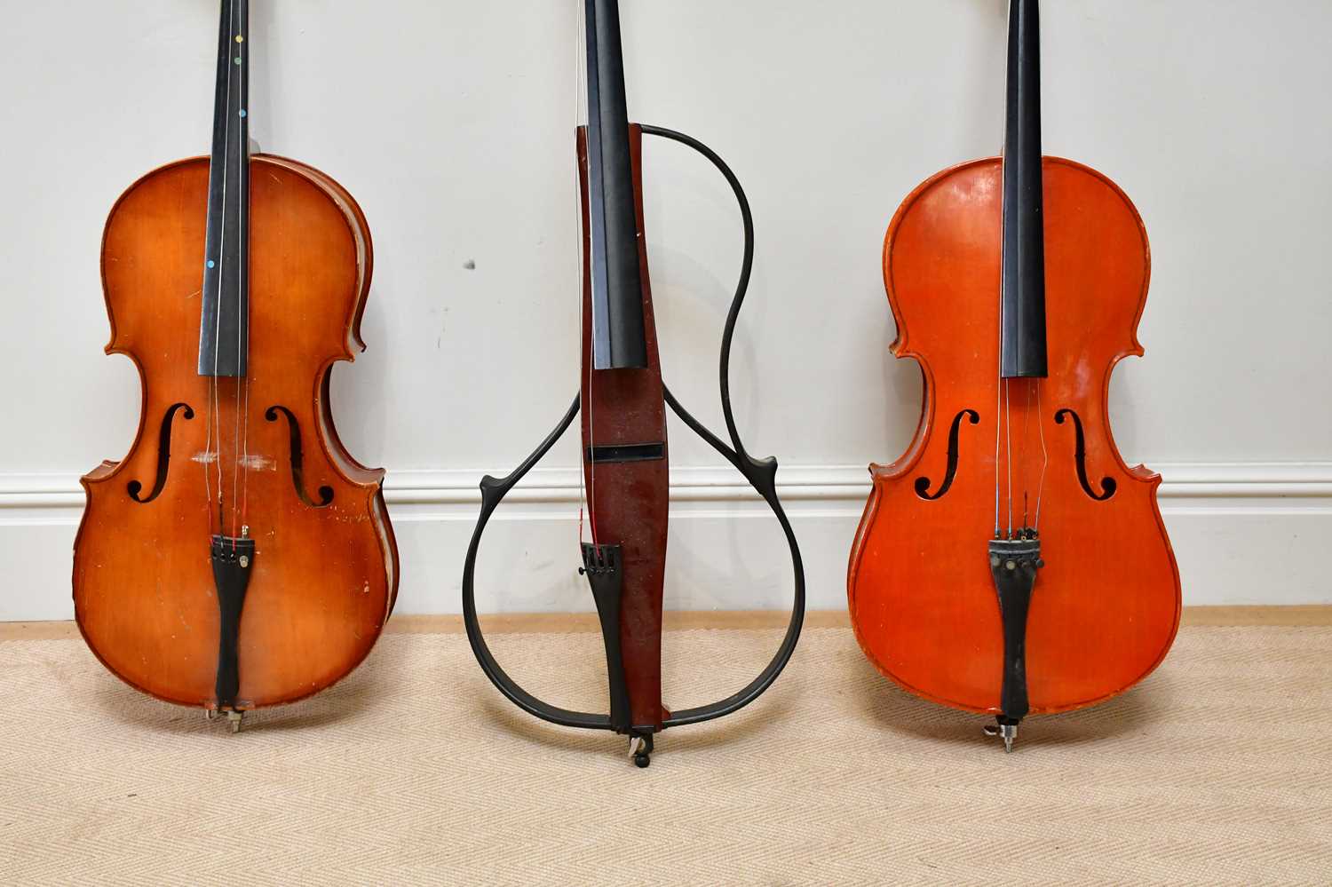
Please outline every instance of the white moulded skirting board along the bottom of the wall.
[[[1332, 603], [1332, 463], [1173, 463], [1162, 513], [1185, 605]], [[402, 561], [398, 613], [458, 613], [481, 470], [393, 471], [385, 485]], [[809, 607], [846, 605], [846, 559], [868, 494], [862, 466], [794, 466], [778, 490], [805, 558]], [[0, 621], [69, 619], [71, 551], [83, 490], [67, 474], [0, 474]], [[591, 609], [578, 575], [575, 469], [537, 469], [501, 505], [477, 570], [482, 613]], [[729, 467], [671, 475], [666, 605], [790, 605], [791, 567], [762, 501]]]

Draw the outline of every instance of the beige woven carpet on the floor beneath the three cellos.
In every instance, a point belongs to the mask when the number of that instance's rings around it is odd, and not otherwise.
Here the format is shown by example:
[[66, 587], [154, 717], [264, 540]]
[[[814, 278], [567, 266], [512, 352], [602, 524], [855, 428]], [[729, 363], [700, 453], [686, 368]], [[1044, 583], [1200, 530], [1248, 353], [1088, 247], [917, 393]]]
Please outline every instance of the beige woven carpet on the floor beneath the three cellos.
[[[774, 631], [667, 635], [669, 701], [739, 686]], [[494, 639], [598, 706], [598, 639]], [[689, 689], [685, 693], [683, 689]], [[505, 702], [457, 634], [366, 665], [240, 735], [144, 698], [79, 641], [0, 643], [0, 880], [11, 883], [1332, 883], [1332, 629], [1185, 629], [1128, 695], [982, 718], [890, 687], [807, 631], [730, 719], [618, 738]]]

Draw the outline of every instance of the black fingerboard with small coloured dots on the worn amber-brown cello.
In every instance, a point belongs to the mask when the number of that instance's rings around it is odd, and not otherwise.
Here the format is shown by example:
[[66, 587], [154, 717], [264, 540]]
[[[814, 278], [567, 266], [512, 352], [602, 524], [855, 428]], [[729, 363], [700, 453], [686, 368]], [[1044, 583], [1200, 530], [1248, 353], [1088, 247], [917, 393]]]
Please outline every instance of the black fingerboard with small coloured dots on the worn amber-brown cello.
[[208, 170], [198, 374], [245, 376], [249, 350], [249, 0], [222, 0]]

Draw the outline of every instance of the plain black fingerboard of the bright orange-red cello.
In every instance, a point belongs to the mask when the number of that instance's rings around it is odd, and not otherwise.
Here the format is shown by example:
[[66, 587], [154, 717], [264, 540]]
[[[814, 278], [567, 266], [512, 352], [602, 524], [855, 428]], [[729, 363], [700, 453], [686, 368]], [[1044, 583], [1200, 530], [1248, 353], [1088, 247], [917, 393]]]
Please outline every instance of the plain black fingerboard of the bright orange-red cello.
[[1011, 0], [1003, 148], [1002, 378], [1048, 374], [1043, 204], [1039, 4]]

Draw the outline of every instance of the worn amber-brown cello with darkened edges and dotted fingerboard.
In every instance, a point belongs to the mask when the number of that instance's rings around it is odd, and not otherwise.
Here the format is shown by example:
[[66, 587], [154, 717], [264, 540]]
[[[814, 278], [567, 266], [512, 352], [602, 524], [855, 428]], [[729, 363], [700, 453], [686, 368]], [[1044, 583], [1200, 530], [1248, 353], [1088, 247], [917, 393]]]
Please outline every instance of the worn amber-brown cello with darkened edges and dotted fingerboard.
[[107, 220], [108, 353], [135, 361], [139, 433], [83, 478], [79, 627], [160, 699], [293, 702], [369, 653], [397, 590], [384, 471], [333, 428], [329, 373], [364, 349], [372, 244], [324, 173], [249, 152], [248, 1], [222, 0], [210, 157], [135, 182]]

